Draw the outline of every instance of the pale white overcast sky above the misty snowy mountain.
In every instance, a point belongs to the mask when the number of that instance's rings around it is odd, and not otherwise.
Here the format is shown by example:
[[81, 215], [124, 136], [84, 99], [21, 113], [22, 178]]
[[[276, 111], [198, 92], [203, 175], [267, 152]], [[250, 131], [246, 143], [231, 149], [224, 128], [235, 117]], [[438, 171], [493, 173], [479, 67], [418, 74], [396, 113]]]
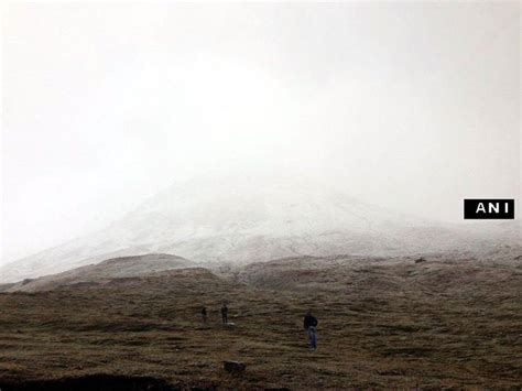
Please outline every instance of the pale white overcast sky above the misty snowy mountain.
[[520, 195], [519, 2], [26, 3], [2, 37], [3, 262], [209, 171], [447, 221]]

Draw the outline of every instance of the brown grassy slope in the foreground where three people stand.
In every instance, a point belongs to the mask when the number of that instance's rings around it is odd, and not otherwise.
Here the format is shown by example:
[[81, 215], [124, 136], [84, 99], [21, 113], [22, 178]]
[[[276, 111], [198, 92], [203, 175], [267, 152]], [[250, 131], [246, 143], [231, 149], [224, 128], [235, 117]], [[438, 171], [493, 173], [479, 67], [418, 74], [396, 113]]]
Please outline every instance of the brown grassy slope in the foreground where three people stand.
[[294, 257], [3, 292], [0, 388], [519, 389], [521, 253]]

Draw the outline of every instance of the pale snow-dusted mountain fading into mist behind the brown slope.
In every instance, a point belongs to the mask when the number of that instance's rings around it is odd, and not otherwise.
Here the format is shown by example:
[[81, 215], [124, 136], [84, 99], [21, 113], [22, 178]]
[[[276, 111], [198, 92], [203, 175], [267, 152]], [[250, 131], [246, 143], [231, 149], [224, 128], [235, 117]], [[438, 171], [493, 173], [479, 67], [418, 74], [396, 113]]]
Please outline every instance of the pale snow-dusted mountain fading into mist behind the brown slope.
[[173, 185], [104, 230], [9, 263], [0, 269], [0, 281], [146, 253], [248, 263], [295, 256], [429, 252], [472, 240], [314, 181], [213, 176]]

